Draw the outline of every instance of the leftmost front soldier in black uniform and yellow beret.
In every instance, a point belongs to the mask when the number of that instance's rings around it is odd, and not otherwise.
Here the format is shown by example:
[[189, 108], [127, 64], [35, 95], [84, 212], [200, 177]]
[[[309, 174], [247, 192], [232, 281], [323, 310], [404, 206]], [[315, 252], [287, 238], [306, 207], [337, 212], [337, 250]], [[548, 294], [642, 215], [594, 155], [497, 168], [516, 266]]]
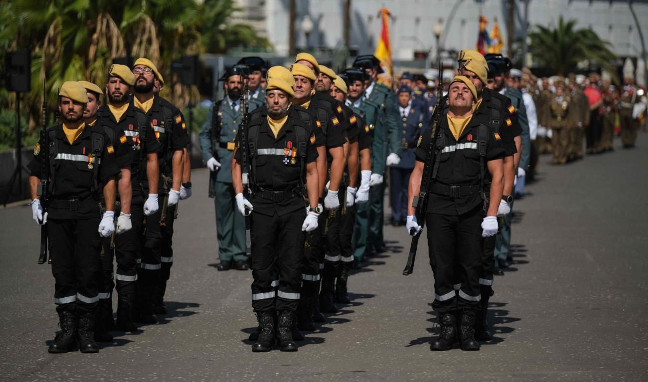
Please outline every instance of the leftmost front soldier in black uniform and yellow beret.
[[[119, 167], [106, 134], [97, 126], [86, 126], [83, 120], [87, 102], [86, 89], [78, 82], [63, 84], [58, 101], [63, 123], [49, 129], [49, 147], [37, 145], [28, 166], [32, 216], [40, 225], [49, 223], [47, 238], [56, 280], [54, 303], [61, 332], [49, 346], [50, 353], [69, 352], [77, 342], [83, 353], [99, 351], [93, 329], [99, 300], [100, 237], [109, 237], [115, 230]], [[45, 152], [49, 154], [49, 174], [42, 173]], [[38, 192], [41, 176], [49, 176], [49, 209], [45, 213]], [[106, 200], [103, 217], [100, 190]]]

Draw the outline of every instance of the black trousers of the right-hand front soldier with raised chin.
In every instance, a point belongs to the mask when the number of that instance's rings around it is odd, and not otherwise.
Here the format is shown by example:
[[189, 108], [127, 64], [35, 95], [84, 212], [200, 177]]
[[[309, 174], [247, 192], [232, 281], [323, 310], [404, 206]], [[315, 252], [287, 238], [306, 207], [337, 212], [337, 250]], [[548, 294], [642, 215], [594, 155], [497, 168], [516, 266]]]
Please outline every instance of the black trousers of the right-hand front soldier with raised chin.
[[[439, 313], [479, 309], [483, 238], [481, 204], [463, 215], [426, 215], [430, 266], [434, 273], [434, 302]], [[456, 291], [454, 285], [461, 286]]]

